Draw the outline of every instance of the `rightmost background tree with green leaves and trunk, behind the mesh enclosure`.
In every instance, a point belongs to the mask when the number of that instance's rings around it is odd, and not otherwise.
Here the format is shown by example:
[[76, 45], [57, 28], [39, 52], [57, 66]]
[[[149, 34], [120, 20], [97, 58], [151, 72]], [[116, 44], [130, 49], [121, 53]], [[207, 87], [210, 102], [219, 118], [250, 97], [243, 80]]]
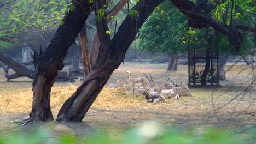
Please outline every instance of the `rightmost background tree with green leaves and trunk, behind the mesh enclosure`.
[[[252, 52], [254, 45], [253, 28], [256, 26], [256, 3], [255, 1], [227, 1], [218, 5], [218, 7], [212, 11], [212, 17], [224, 26], [241, 27], [243, 29], [246, 26], [251, 27], [249, 31], [239, 32], [242, 34], [241, 49], [237, 52], [232, 49], [232, 44], [226, 39], [225, 35], [218, 33], [213, 35], [216, 39], [215, 45], [218, 45], [219, 50], [219, 80], [226, 80], [225, 65], [228, 62], [230, 55], [245, 56]], [[238, 24], [239, 23], [239, 24]], [[246, 25], [246, 26], [245, 26]], [[255, 52], [253, 52], [255, 53]]]

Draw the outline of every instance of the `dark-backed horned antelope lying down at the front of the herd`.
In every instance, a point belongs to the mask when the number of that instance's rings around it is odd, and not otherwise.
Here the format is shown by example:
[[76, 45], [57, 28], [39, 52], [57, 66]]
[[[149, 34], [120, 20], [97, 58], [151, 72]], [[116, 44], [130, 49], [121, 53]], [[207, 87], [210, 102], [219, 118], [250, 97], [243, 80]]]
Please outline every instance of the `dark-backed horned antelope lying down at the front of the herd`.
[[[154, 85], [153, 85], [154, 86]], [[166, 102], [165, 97], [162, 95], [156, 93], [156, 92], [151, 92], [150, 88], [153, 86], [149, 87], [142, 95], [145, 95], [145, 103], [158, 103], [158, 102]]]

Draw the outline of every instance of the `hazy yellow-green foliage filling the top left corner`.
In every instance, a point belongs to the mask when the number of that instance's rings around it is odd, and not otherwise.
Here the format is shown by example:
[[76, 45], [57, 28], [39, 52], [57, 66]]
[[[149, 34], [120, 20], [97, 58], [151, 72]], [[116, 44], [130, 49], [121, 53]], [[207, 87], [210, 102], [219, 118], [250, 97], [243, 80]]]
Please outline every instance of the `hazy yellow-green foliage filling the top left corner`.
[[65, 1], [21, 0], [0, 8], [0, 46], [5, 43], [22, 44], [31, 35], [44, 35], [65, 14]]

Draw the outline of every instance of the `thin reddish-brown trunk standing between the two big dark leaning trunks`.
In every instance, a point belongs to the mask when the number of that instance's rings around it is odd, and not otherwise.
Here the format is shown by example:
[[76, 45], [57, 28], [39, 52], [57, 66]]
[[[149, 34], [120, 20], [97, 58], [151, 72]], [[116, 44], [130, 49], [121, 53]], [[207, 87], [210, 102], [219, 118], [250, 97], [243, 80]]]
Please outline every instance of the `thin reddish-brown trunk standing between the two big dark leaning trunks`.
[[86, 77], [89, 75], [91, 71], [90, 57], [89, 57], [89, 48], [87, 42], [87, 34], [86, 34], [86, 23], [79, 32], [81, 51], [82, 51], [82, 64], [84, 69], [83, 81], [85, 81]]

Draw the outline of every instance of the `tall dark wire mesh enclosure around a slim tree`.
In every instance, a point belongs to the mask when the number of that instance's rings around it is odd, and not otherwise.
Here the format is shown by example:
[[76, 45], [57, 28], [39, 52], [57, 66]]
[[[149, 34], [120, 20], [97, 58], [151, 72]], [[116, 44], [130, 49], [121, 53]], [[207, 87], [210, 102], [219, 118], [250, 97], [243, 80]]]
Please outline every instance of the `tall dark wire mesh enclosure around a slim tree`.
[[188, 46], [189, 85], [219, 85], [219, 53]]

